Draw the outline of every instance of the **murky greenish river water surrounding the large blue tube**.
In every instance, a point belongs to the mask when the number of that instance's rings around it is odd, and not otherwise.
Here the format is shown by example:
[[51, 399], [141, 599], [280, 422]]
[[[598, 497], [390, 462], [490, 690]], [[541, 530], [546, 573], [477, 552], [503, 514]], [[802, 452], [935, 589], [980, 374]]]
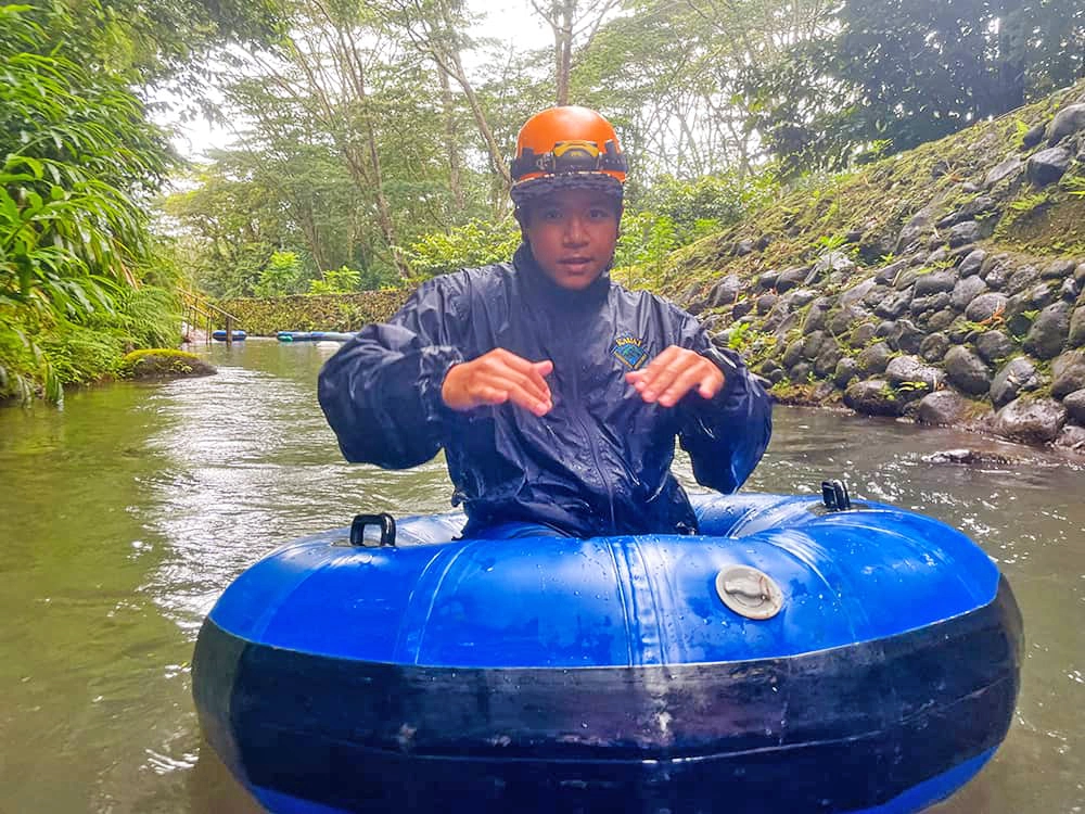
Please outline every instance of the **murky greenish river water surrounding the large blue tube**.
[[[189, 660], [204, 614], [288, 539], [361, 510], [448, 508], [439, 459], [408, 472], [341, 461], [315, 397], [334, 349], [217, 345], [200, 348], [214, 377], [0, 410], [0, 814], [258, 811], [201, 749]], [[1019, 460], [924, 460], [965, 446]], [[692, 485], [687, 461], [676, 471]], [[963, 529], [1024, 615], [1009, 737], [932, 812], [1085, 810], [1085, 468], [952, 431], [777, 408], [748, 488], [812, 493], [826, 476]]]

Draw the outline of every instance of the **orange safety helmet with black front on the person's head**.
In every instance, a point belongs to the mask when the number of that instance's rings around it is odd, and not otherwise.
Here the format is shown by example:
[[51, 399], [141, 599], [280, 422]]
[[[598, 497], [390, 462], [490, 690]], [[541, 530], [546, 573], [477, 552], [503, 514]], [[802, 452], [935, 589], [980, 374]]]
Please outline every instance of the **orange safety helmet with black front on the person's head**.
[[519, 206], [571, 187], [621, 199], [627, 169], [610, 122], [588, 107], [550, 107], [527, 119], [516, 137], [512, 200]]

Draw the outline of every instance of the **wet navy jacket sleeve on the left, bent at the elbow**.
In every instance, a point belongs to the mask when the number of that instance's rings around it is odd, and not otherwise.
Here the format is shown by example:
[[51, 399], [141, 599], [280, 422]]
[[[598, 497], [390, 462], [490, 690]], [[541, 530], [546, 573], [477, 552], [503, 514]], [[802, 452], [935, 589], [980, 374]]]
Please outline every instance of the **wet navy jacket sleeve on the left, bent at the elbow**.
[[324, 364], [317, 396], [347, 460], [406, 469], [441, 449], [441, 387], [463, 361], [449, 289], [424, 283], [392, 319], [366, 326]]

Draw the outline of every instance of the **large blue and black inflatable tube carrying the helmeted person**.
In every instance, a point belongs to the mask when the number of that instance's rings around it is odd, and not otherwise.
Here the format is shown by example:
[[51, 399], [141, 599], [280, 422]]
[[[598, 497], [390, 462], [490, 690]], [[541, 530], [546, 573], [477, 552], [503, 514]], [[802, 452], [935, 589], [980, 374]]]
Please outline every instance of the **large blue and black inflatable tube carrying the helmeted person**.
[[992, 756], [1022, 626], [966, 536], [878, 504], [697, 508], [689, 537], [457, 540], [447, 514], [291, 543], [200, 633], [207, 739], [306, 814], [907, 814]]

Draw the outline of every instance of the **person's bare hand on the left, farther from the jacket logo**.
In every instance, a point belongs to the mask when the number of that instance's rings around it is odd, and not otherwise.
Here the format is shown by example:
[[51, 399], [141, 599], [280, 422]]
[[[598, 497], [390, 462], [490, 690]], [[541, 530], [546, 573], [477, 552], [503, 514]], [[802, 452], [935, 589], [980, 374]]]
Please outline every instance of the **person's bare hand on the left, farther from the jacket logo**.
[[552, 361], [528, 361], [497, 347], [471, 361], [452, 365], [441, 385], [441, 397], [459, 411], [512, 402], [536, 416], [545, 416], [553, 402], [542, 377], [552, 370]]

